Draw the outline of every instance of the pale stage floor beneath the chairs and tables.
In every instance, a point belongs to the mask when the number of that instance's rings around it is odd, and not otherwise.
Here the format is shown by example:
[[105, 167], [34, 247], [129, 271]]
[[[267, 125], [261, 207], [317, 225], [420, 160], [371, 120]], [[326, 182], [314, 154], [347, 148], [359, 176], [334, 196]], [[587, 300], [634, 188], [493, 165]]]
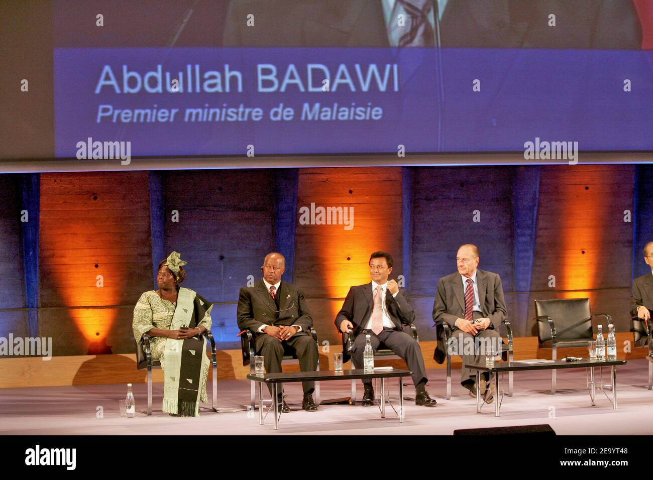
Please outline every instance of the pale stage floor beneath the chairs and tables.
[[[406, 421], [400, 424], [389, 406], [381, 419], [379, 408], [349, 405], [320, 406], [317, 412], [306, 412], [298, 406], [283, 413], [279, 430], [275, 431], [272, 413], [264, 425], [259, 414], [238, 411], [215, 413], [201, 411], [200, 418], [176, 418], [159, 411], [151, 417], [137, 413], [134, 419], [119, 416], [118, 400], [125, 397], [126, 385], [83, 385], [79, 387], [34, 387], [0, 390], [0, 434], [11, 435], [93, 435], [93, 434], [443, 434], [458, 428], [484, 428], [528, 424], [549, 424], [559, 435], [643, 435], [653, 434], [650, 412], [653, 391], [646, 390], [647, 360], [629, 360], [617, 369], [618, 409], [601, 391], [592, 406], [587, 391], [547, 394], [550, 371], [516, 372], [515, 393], [505, 397], [501, 417], [494, 416], [494, 404], [476, 413], [475, 399], [468, 395], [442, 400], [445, 370], [430, 370], [427, 385], [437, 398], [433, 408], [415, 406], [406, 401]], [[603, 369], [603, 383], [609, 383], [609, 368]], [[598, 376], [598, 375], [597, 375]], [[460, 370], [452, 376], [453, 394], [466, 390], [458, 382]], [[579, 388], [585, 384], [584, 369], [559, 370], [558, 389]], [[390, 383], [390, 394], [396, 395], [396, 381]], [[507, 377], [506, 377], [507, 386]], [[210, 387], [210, 383], [209, 383]], [[350, 383], [328, 381], [321, 384], [322, 398], [349, 396]], [[287, 402], [300, 402], [301, 385], [286, 384]], [[153, 387], [153, 408], [161, 409], [163, 384]], [[404, 393], [413, 396], [412, 387]], [[611, 391], [605, 393], [611, 395]], [[266, 392], [267, 394], [267, 392]], [[362, 395], [359, 383], [358, 398]], [[146, 385], [135, 385], [136, 408], [145, 409]], [[377, 392], [378, 397], [378, 392]], [[249, 400], [249, 381], [221, 380], [218, 383], [218, 406], [237, 407]], [[396, 401], [393, 402], [396, 406]], [[98, 417], [99, 407], [103, 412]]]

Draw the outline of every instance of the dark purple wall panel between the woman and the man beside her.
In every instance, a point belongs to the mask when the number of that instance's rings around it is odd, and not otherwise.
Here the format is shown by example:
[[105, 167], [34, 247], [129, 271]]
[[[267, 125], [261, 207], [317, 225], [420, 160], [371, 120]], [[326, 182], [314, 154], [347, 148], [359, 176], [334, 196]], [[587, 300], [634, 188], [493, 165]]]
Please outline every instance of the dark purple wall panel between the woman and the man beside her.
[[165, 199], [166, 251], [188, 262], [182, 285], [212, 302], [237, 302], [247, 276], [260, 280], [274, 249], [271, 170], [167, 172]]

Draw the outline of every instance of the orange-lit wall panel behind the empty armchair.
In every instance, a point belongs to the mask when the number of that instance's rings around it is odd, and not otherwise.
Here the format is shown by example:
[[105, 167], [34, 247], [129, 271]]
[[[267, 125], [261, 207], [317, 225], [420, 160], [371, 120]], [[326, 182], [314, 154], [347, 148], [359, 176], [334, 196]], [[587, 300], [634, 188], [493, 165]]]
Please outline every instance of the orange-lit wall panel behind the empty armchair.
[[[628, 332], [633, 224], [632, 165], [543, 167], [526, 334], [536, 334], [535, 298], [589, 297], [593, 313]], [[549, 287], [555, 276], [555, 287]]]

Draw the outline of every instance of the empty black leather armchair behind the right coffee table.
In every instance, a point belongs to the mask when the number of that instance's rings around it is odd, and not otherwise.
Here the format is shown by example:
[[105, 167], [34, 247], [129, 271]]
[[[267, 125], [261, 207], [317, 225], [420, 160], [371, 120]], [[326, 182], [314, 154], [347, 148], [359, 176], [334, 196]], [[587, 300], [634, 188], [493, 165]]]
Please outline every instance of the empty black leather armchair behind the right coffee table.
[[[589, 342], [594, 340], [593, 318], [605, 317], [607, 323], [612, 323], [607, 313], [592, 315], [589, 298], [535, 300], [535, 315], [539, 347], [550, 348], [552, 360], [558, 359], [558, 348], [588, 348]], [[556, 392], [557, 372], [551, 370], [551, 394]]]

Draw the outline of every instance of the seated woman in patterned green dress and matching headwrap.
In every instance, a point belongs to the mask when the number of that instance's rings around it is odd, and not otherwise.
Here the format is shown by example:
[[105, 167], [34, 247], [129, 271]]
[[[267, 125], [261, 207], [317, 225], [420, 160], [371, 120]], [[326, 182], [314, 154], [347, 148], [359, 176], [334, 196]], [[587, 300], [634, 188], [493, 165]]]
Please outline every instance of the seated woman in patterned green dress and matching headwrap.
[[173, 251], [159, 264], [159, 289], [143, 293], [134, 308], [134, 338], [150, 335], [152, 358], [163, 369], [163, 411], [199, 417], [199, 401], [207, 402], [210, 360], [204, 332], [211, 328], [212, 305], [195, 291], [180, 287], [187, 262]]

